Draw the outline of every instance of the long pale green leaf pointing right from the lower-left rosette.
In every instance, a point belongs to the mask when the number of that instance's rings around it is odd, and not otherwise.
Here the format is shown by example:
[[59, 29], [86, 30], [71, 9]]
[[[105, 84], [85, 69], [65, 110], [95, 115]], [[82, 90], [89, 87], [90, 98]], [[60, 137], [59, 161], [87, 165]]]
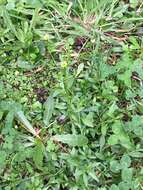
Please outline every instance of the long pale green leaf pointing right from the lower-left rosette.
[[69, 146], [85, 146], [88, 143], [88, 139], [83, 135], [55, 135], [52, 139], [68, 144]]

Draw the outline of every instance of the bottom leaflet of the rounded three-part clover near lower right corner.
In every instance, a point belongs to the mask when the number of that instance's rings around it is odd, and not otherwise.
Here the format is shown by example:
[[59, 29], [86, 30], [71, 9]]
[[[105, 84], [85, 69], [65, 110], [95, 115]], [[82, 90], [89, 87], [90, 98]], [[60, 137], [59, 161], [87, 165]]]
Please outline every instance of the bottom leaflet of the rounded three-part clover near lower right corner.
[[133, 168], [124, 168], [122, 170], [122, 180], [129, 182], [132, 181], [132, 177], [133, 177]]

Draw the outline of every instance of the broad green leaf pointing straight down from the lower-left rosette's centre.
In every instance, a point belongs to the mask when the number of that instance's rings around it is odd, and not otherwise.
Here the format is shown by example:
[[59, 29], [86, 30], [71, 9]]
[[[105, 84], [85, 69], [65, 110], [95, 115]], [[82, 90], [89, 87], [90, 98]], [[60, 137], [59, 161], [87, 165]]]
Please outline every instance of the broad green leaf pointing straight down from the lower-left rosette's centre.
[[33, 150], [33, 160], [38, 169], [42, 169], [43, 158], [44, 158], [44, 145], [39, 139], [36, 139], [35, 147]]

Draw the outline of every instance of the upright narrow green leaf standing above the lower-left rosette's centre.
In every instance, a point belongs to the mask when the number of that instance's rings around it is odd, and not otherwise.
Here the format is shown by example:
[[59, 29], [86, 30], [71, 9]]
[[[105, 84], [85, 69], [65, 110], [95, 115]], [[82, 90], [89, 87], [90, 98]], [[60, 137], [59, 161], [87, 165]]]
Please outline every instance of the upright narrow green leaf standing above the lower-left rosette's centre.
[[54, 111], [54, 98], [53, 96], [49, 96], [47, 101], [44, 104], [44, 117], [43, 122], [46, 126], [49, 125], [49, 121], [52, 117], [53, 111]]

